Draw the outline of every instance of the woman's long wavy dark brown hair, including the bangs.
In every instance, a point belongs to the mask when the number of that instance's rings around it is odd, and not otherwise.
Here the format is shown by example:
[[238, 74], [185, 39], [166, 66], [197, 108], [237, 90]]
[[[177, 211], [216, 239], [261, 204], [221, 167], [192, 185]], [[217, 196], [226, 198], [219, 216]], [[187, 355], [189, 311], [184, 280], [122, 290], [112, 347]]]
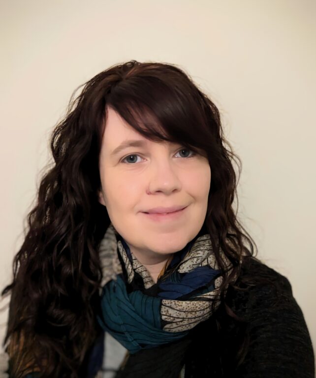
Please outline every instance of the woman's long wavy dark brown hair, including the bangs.
[[224, 138], [219, 110], [188, 74], [173, 64], [130, 61], [97, 74], [77, 97], [76, 92], [52, 133], [54, 163], [41, 178], [25, 240], [14, 257], [12, 283], [2, 291], [11, 293], [3, 345], [14, 378], [31, 371], [85, 377], [87, 355], [100, 333], [98, 246], [110, 224], [98, 201], [107, 106], [150, 140], [179, 142], [207, 154], [212, 180], [203, 226], [220, 266], [220, 248], [233, 266], [222, 287], [239, 275], [243, 256], [256, 249], [237, 220], [233, 162], [240, 171], [240, 158]]

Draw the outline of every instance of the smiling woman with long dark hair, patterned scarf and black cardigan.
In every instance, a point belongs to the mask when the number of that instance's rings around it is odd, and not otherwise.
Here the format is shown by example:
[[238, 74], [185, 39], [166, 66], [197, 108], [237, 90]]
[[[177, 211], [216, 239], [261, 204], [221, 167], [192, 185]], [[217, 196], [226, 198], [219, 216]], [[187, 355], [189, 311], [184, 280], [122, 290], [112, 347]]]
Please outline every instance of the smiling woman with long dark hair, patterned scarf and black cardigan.
[[219, 111], [181, 69], [96, 75], [51, 149], [2, 292], [9, 377], [314, 377], [291, 286], [233, 209]]

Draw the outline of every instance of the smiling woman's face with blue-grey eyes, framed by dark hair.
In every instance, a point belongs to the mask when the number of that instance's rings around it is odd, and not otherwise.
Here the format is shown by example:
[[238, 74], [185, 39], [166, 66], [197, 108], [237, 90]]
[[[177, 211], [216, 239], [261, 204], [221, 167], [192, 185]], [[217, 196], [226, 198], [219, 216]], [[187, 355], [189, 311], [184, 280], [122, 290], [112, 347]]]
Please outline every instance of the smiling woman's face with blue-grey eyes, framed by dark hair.
[[[130, 140], [137, 142], [128, 146]], [[206, 157], [181, 144], [150, 141], [107, 108], [99, 169], [99, 201], [141, 263], [180, 251], [200, 231], [211, 184]], [[184, 209], [170, 213], [172, 207]]]

